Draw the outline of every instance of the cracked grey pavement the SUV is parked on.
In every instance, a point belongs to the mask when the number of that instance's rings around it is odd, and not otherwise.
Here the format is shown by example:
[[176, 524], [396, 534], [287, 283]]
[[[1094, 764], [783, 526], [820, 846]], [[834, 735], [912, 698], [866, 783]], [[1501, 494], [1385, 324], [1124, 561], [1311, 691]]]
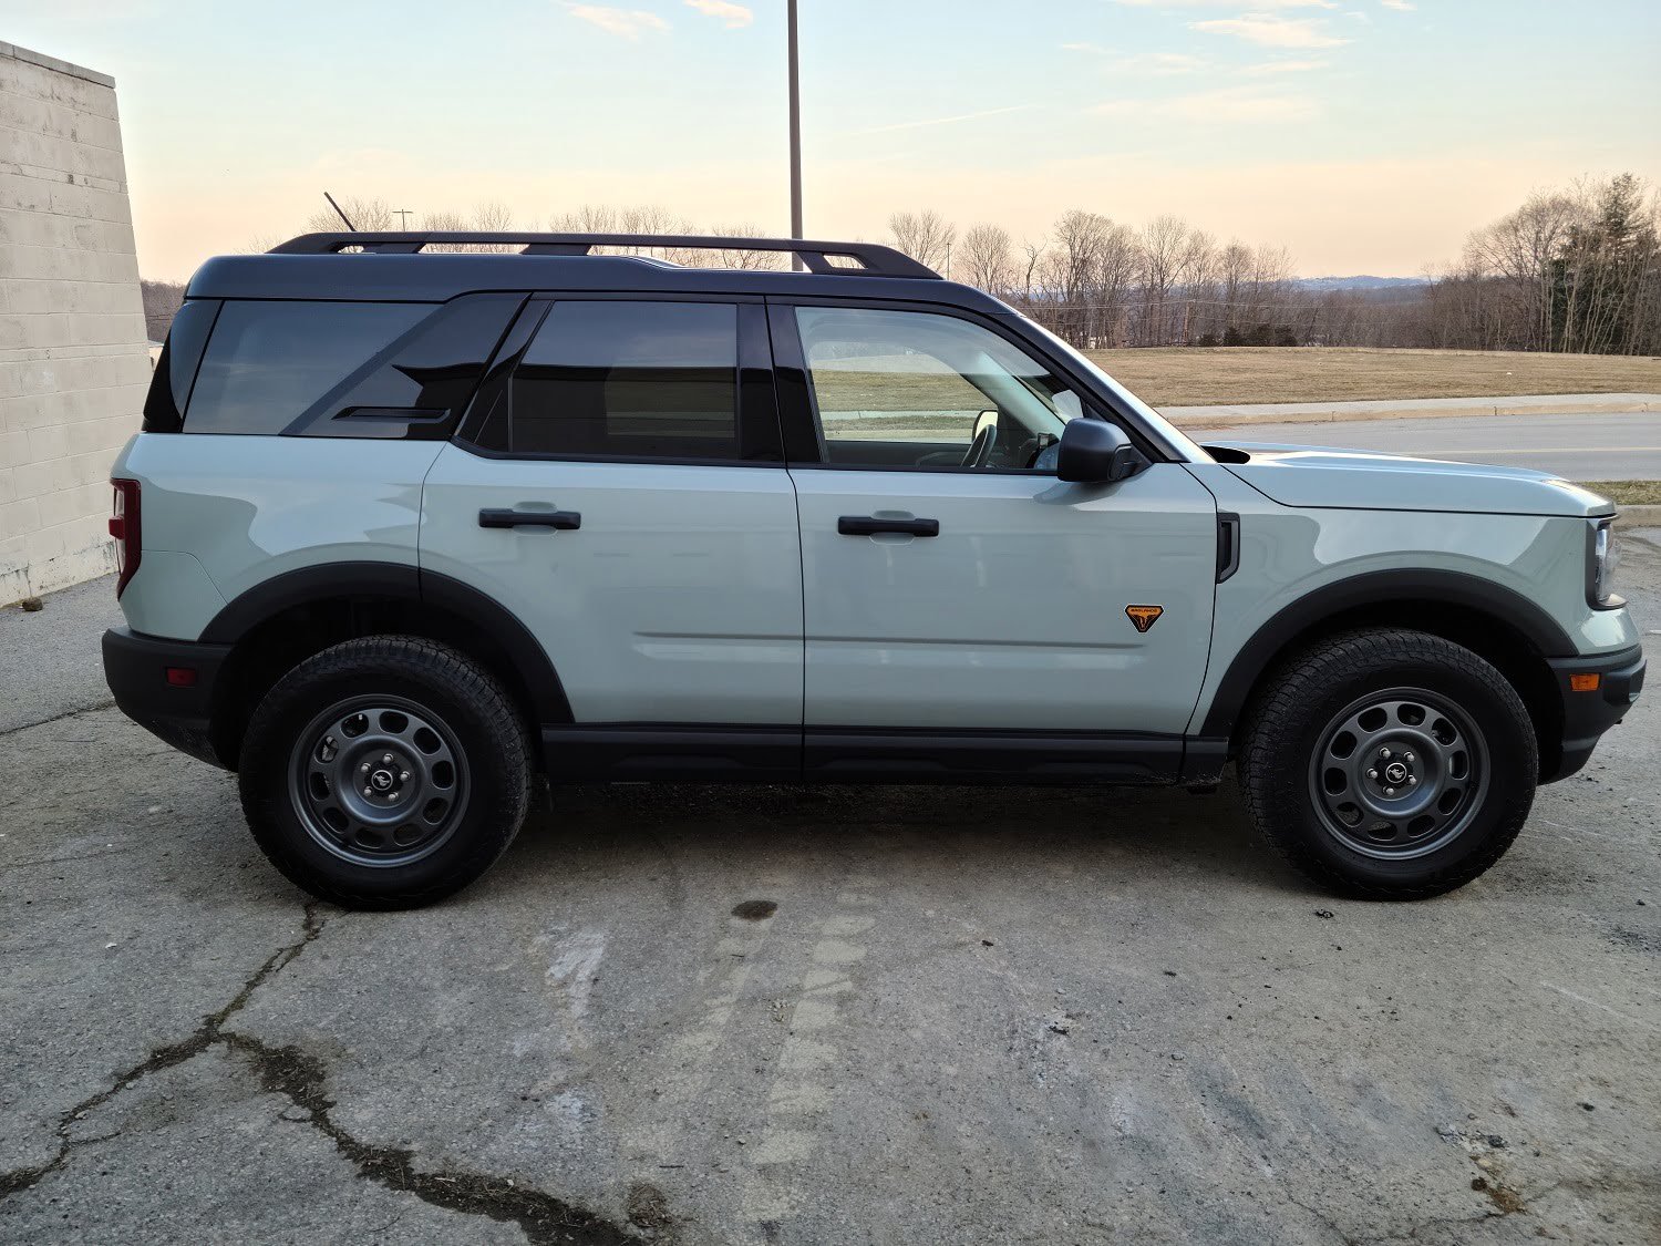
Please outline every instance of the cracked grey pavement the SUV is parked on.
[[[1621, 583], [1654, 651], [1661, 532]], [[1229, 786], [613, 787], [344, 914], [113, 616], [0, 616], [0, 1241], [1661, 1238], [1658, 689], [1423, 904]]]

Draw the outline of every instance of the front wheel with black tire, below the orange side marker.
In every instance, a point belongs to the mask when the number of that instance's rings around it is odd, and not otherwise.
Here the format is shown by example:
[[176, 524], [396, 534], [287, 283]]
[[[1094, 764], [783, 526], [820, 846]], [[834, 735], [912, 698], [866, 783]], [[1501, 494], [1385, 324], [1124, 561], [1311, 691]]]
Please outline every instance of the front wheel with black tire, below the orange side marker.
[[1347, 895], [1422, 899], [1503, 856], [1538, 782], [1516, 689], [1470, 650], [1407, 630], [1319, 641], [1274, 673], [1239, 754], [1259, 832]]

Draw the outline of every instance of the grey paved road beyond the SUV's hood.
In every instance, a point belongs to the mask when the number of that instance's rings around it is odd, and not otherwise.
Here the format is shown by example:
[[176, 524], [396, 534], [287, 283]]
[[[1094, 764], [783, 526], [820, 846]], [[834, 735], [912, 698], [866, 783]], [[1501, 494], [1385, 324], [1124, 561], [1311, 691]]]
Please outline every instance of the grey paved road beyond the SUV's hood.
[[1252, 424], [1194, 430], [1251, 442], [1385, 450], [1468, 464], [1507, 464], [1568, 480], [1661, 480], [1661, 412], [1480, 415], [1354, 424]]

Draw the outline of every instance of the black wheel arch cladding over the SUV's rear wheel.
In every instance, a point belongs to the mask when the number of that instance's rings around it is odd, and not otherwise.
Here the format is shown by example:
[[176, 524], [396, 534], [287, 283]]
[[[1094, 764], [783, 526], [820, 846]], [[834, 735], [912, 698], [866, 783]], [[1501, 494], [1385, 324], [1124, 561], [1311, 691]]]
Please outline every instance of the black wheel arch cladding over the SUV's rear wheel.
[[282, 675], [331, 645], [379, 633], [425, 636], [470, 655], [497, 676], [533, 733], [571, 721], [548, 653], [480, 590], [404, 563], [327, 563], [254, 585], [203, 631], [204, 643], [231, 646], [213, 694], [219, 758], [234, 766], [254, 708]]

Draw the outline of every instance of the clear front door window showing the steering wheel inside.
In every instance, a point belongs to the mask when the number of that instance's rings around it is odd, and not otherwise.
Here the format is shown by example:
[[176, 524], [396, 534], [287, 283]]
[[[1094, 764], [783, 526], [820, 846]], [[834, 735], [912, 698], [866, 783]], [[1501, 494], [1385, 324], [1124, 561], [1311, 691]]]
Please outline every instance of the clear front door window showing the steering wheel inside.
[[824, 462], [1053, 470], [1078, 395], [970, 321], [874, 307], [797, 307]]

